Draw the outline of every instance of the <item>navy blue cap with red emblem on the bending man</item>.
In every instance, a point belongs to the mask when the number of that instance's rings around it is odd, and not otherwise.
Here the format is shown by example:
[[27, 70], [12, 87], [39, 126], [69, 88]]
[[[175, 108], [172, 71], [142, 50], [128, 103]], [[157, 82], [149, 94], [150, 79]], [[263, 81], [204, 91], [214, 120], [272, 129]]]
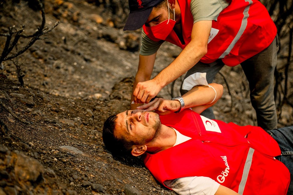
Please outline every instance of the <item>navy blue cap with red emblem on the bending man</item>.
[[123, 30], [137, 30], [146, 23], [153, 7], [163, 0], [128, 0], [130, 13]]

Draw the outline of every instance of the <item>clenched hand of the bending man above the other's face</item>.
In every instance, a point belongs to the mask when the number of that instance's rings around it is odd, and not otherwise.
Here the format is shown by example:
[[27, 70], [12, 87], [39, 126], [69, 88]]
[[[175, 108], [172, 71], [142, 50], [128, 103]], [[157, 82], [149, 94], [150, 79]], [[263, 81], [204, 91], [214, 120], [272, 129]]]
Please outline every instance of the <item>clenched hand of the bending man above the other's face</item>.
[[149, 103], [161, 91], [162, 87], [154, 79], [137, 83], [133, 91], [134, 103]]

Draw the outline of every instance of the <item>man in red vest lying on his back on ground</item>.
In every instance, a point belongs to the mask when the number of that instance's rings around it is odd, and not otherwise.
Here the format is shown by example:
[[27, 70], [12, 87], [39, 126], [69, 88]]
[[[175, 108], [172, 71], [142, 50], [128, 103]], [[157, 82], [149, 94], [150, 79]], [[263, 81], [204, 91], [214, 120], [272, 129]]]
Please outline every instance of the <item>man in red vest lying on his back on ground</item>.
[[105, 146], [113, 155], [142, 155], [154, 177], [178, 194], [292, 194], [293, 126], [266, 132], [198, 114], [222, 91], [215, 83], [195, 86], [182, 98], [110, 116]]

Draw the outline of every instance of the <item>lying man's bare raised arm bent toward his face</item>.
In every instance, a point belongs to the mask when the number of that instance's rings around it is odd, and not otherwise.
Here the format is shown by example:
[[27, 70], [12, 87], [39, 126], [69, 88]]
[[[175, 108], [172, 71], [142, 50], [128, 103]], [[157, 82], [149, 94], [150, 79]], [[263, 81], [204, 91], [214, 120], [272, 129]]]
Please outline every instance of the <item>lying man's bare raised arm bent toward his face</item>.
[[[215, 89], [216, 93], [214, 89], [205, 85], [197, 85], [185, 93], [182, 96], [185, 103], [185, 109], [192, 108], [193, 111], [200, 114], [208, 107], [214, 105], [222, 97], [222, 85], [217, 83], [211, 83], [209, 85]], [[180, 102], [177, 100], [156, 98], [148, 104], [137, 107], [137, 109], [145, 109], [145, 111], [155, 110], [160, 115], [166, 115], [170, 112], [178, 111], [180, 109]]]

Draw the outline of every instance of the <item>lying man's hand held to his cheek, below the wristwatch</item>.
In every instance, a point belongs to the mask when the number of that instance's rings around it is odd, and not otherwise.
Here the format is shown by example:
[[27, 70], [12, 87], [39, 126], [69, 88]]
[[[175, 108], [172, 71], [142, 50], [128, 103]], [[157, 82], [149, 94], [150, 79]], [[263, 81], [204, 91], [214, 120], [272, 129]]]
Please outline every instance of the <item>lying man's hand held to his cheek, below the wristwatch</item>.
[[155, 110], [159, 115], [166, 115], [170, 112], [176, 112], [180, 109], [180, 102], [177, 100], [166, 100], [163, 98], [156, 98], [148, 104], [137, 107], [137, 109], [145, 109], [144, 111]]

